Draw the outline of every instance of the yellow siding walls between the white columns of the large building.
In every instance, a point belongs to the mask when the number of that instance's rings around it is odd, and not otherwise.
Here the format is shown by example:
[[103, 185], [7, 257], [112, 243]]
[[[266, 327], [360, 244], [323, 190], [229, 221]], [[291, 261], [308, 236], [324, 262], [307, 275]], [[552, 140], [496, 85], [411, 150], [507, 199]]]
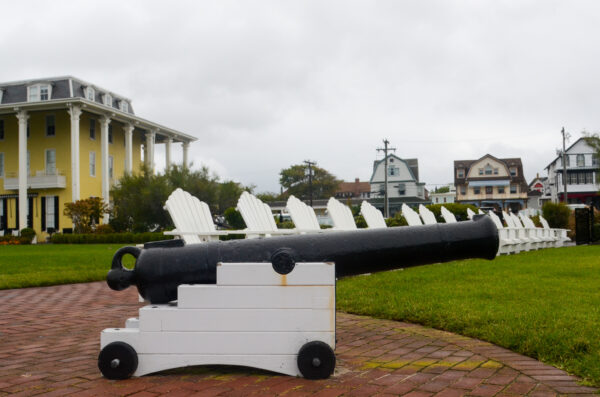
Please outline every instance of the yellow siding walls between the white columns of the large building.
[[[55, 117], [56, 135], [46, 136], [46, 115]], [[2, 115], [4, 120], [4, 140], [0, 141], [0, 153], [4, 153], [4, 177], [0, 178], [0, 194], [18, 194], [18, 190], [4, 190], [4, 178], [18, 176], [18, 122], [16, 116]], [[90, 139], [90, 119], [95, 120], [96, 139]], [[100, 150], [100, 123], [99, 117], [90, 113], [82, 113], [80, 118], [80, 197], [82, 199], [90, 196], [102, 196], [102, 168]], [[113, 121], [113, 143], [109, 144], [109, 156], [114, 158], [113, 178], [114, 182], [122, 177], [125, 168], [125, 139], [121, 123]], [[38, 238], [45, 238], [41, 221], [41, 201], [44, 196], [58, 196], [59, 200], [59, 229], [72, 226], [70, 218], [63, 215], [64, 204], [72, 201], [71, 192], [71, 121], [65, 110], [39, 111], [29, 113], [30, 135], [27, 140], [27, 149], [30, 154], [30, 175], [45, 171], [46, 149], [56, 150], [56, 169], [61, 175], [66, 176], [66, 187], [64, 189], [29, 189], [28, 193], [37, 193], [33, 199], [33, 228]], [[133, 133], [133, 172], [140, 169], [141, 164], [141, 132]], [[96, 176], [90, 176], [89, 153], [96, 153]], [[15, 228], [17, 222], [16, 203], [18, 199], [7, 200], [7, 224], [9, 228]], [[19, 225], [22, 229], [25, 225]]]

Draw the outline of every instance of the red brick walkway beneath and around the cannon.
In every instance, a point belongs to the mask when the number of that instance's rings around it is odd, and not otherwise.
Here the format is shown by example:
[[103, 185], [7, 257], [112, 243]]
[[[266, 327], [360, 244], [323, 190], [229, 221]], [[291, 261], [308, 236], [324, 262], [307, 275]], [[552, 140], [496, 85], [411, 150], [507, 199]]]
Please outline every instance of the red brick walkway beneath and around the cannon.
[[100, 375], [103, 328], [137, 315], [134, 289], [105, 283], [0, 291], [0, 396], [555, 396], [596, 393], [565, 372], [489, 343], [338, 314], [338, 365], [324, 381], [193, 367], [126, 381]]

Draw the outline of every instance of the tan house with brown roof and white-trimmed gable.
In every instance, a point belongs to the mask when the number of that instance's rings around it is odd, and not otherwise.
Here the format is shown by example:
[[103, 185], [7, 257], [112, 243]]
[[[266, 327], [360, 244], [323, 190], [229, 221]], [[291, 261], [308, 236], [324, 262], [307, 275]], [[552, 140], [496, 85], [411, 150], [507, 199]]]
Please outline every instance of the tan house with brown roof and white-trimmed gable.
[[529, 189], [520, 158], [499, 159], [486, 154], [478, 160], [456, 160], [454, 184], [459, 203], [514, 212], [527, 206]]

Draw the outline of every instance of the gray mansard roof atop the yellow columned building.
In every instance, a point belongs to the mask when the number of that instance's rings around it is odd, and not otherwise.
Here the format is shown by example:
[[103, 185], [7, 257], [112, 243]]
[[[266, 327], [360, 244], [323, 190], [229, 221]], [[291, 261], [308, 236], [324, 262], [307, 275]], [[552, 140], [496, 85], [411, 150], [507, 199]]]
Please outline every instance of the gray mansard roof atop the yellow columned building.
[[[95, 84], [88, 83], [81, 79], [72, 76], [51, 77], [44, 79], [14, 81], [10, 83], [0, 83], [2, 90], [2, 100], [0, 105], [10, 103], [27, 102], [27, 87], [34, 84], [50, 84], [52, 86], [52, 95], [50, 100], [67, 99], [67, 98], [86, 98], [85, 88], [92, 87], [95, 91], [94, 102], [104, 104], [102, 101], [104, 94], [109, 94], [112, 97], [111, 107], [120, 109], [120, 103], [126, 102], [128, 109], [126, 113], [135, 114], [131, 106], [131, 100], [123, 95], [116, 94], [110, 90], [106, 90]], [[72, 92], [71, 92], [72, 90]]]

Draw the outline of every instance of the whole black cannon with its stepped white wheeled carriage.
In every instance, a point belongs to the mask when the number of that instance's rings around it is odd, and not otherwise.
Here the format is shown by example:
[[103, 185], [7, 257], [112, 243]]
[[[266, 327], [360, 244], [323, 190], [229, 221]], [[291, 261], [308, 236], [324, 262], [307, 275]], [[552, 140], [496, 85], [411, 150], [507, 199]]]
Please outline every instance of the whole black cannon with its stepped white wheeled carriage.
[[[101, 333], [98, 366], [125, 379], [190, 365], [243, 365], [308, 379], [335, 368], [335, 280], [466, 258], [493, 259], [498, 230], [473, 221], [185, 245], [123, 247], [110, 288], [150, 302]], [[122, 264], [125, 255], [136, 262]]]

